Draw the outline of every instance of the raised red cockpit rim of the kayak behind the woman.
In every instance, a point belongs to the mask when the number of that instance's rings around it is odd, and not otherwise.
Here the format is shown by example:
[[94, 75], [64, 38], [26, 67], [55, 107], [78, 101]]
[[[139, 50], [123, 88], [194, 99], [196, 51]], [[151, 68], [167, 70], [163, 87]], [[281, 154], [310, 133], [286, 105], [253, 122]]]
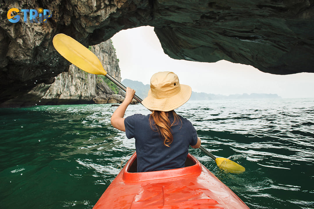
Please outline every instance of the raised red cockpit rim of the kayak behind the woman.
[[159, 170], [150, 172], [136, 172], [136, 153], [132, 155], [123, 169], [122, 179], [127, 182], [139, 182], [148, 180], [158, 180], [200, 174], [202, 172], [201, 163], [190, 153], [187, 155], [186, 167], [171, 170]]

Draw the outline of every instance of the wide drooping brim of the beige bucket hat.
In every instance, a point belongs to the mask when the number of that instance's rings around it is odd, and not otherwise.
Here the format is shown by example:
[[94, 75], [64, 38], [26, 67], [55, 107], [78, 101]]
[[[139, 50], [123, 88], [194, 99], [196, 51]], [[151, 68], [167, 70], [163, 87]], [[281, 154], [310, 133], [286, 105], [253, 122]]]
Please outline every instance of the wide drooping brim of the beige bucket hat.
[[149, 89], [148, 96], [142, 101], [142, 104], [149, 110], [164, 112], [174, 110], [186, 103], [190, 99], [192, 94], [192, 88], [190, 86], [180, 84], [180, 87], [181, 90], [179, 93], [172, 97], [163, 99], [154, 98]]

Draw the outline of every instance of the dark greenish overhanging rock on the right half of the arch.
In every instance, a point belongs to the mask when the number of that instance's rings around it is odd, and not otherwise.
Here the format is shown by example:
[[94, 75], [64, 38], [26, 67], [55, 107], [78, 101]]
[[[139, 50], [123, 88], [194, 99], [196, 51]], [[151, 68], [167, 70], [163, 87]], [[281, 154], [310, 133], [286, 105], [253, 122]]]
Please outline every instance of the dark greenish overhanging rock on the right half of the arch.
[[224, 59], [273, 74], [314, 72], [314, 1], [200, 1], [177, 8], [175, 15], [162, 10], [168, 23], [155, 27], [174, 59]]

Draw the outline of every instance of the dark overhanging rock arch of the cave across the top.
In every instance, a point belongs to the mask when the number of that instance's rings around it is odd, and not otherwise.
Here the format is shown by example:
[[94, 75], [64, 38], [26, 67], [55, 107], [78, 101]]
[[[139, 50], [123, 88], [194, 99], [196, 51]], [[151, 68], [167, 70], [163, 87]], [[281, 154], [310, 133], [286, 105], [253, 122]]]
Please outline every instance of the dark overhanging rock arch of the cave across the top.
[[[40, 7], [53, 13], [47, 23], [23, 17], [11, 23], [6, 16], [10, 8]], [[174, 59], [224, 59], [273, 74], [314, 72], [313, 0], [4, 0], [0, 12], [0, 102], [68, 71], [52, 46], [58, 33], [88, 46], [150, 25]]]

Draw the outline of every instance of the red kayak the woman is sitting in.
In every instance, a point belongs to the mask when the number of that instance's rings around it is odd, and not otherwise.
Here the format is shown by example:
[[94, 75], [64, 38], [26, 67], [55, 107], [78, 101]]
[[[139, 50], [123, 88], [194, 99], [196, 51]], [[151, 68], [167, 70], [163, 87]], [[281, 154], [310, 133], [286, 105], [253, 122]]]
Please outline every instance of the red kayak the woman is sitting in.
[[136, 153], [93, 209], [241, 209], [249, 207], [191, 154], [186, 167], [136, 173]]

